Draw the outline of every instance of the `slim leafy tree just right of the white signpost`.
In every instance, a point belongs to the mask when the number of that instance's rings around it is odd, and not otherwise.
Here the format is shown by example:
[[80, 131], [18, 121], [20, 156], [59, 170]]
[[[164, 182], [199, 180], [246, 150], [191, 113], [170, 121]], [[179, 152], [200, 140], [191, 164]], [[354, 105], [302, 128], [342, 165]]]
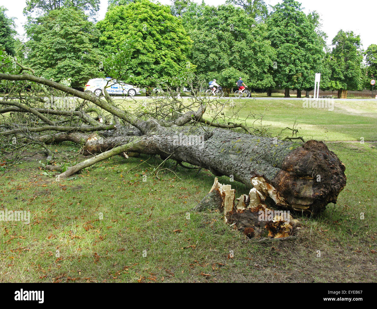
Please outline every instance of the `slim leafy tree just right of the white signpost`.
[[332, 44], [334, 48], [329, 61], [329, 87], [339, 90], [362, 89], [363, 51], [360, 49], [360, 35], [355, 35], [353, 31], [339, 30]]

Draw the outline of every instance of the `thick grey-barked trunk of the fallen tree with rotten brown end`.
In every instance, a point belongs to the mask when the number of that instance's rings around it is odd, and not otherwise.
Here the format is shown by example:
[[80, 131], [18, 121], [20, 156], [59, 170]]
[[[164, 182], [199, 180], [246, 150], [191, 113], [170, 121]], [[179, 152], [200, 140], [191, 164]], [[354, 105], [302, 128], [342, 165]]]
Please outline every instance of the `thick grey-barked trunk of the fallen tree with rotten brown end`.
[[[135, 143], [135, 139], [138, 143]], [[336, 203], [346, 184], [345, 167], [322, 141], [278, 141], [225, 129], [155, 126], [141, 137], [113, 136], [90, 140], [90, 153], [126, 143], [121, 152], [158, 154], [209, 169], [249, 187], [262, 183], [270, 207], [317, 214]], [[77, 170], [76, 170], [77, 172]]]

